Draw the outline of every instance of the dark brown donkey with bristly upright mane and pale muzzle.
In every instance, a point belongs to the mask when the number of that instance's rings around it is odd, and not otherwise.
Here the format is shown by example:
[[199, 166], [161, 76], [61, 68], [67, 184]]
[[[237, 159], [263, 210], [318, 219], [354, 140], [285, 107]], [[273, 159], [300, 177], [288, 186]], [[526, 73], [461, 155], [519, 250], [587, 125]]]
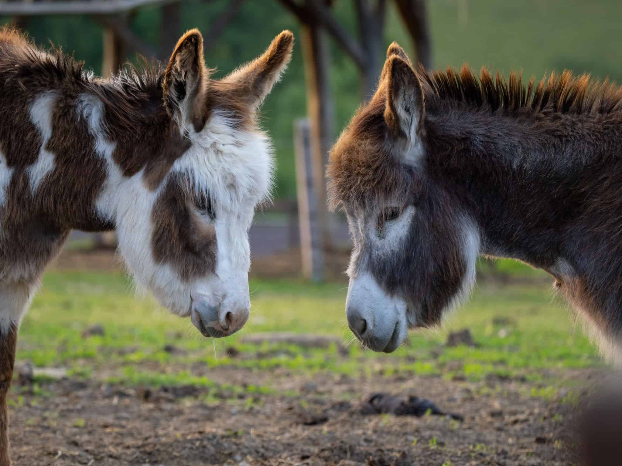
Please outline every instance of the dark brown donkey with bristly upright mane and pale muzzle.
[[468, 296], [478, 255], [549, 272], [621, 360], [622, 90], [565, 71], [526, 86], [414, 70], [389, 47], [371, 102], [330, 155], [355, 242], [348, 324], [391, 352]]

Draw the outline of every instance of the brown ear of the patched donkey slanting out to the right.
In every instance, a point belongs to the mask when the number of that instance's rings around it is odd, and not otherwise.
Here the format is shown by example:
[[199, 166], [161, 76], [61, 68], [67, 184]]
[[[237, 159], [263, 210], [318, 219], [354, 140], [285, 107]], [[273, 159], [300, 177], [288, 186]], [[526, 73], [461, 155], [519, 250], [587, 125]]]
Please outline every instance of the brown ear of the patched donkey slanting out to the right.
[[287, 68], [292, 48], [294, 34], [284, 30], [272, 40], [263, 55], [240, 66], [223, 81], [233, 85], [234, 92], [243, 99], [249, 110], [256, 111]]

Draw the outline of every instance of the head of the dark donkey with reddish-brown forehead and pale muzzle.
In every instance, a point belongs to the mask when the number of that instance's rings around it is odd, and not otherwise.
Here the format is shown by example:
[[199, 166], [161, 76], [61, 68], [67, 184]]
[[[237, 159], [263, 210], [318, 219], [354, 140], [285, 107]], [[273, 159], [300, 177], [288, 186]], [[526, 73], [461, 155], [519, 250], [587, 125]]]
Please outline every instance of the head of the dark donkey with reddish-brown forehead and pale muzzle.
[[329, 202], [345, 211], [354, 242], [348, 325], [376, 351], [438, 324], [475, 279], [479, 236], [427, 163], [427, 91], [393, 43], [376, 94], [330, 154]]

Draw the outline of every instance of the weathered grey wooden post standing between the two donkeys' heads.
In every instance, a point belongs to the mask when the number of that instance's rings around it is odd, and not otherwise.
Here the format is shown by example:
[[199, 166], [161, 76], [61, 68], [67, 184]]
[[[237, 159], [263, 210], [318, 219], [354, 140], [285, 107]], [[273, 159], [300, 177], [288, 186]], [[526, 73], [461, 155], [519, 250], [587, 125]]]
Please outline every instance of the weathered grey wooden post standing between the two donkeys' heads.
[[313, 144], [309, 121], [299, 119], [294, 123], [294, 148], [296, 157], [296, 181], [298, 194], [298, 222], [300, 227], [300, 254], [302, 274], [313, 281], [324, 278], [323, 232], [320, 222], [323, 204], [318, 190], [322, 190], [322, 178], [313, 170]]

